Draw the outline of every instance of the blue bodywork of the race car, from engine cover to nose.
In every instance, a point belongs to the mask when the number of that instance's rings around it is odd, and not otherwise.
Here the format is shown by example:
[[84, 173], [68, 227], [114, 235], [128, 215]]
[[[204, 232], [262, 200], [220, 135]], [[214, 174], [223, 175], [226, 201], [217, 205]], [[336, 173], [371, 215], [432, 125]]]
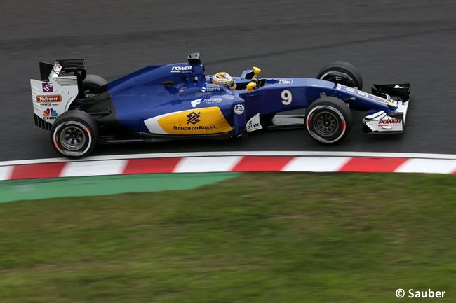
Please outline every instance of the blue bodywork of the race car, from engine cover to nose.
[[[239, 87], [250, 82], [249, 71], [234, 77]], [[359, 111], [384, 111], [390, 114], [397, 106], [387, 99], [355, 90], [326, 80], [314, 78], [260, 78], [262, 86], [248, 90], [229, 90], [210, 83], [204, 64], [182, 63], [148, 66], [106, 85], [120, 125], [133, 132], [150, 133], [145, 120], [167, 113], [176, 113], [210, 106], [218, 106], [236, 135], [245, 128], [246, 121], [260, 115], [308, 108], [312, 101], [323, 96], [342, 99]], [[217, 97], [217, 103], [208, 99]], [[286, 97], [286, 98], [284, 98]], [[195, 106], [192, 101], [201, 99]], [[241, 104], [245, 111], [234, 113]]]

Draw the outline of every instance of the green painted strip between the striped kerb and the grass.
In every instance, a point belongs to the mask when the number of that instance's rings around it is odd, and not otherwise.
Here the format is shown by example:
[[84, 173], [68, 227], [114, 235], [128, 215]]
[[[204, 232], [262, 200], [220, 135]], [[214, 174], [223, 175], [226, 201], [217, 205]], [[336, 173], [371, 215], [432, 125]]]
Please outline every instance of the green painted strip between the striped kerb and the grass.
[[240, 176], [237, 172], [139, 174], [0, 181], [0, 202], [189, 190]]

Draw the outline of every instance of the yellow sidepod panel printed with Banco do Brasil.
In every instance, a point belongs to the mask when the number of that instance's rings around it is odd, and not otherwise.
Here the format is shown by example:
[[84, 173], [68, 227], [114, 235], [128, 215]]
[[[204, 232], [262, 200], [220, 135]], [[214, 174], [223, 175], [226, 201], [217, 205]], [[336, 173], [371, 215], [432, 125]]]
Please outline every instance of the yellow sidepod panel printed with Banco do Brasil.
[[168, 134], [217, 134], [232, 130], [220, 108], [215, 106], [172, 113], [157, 122]]

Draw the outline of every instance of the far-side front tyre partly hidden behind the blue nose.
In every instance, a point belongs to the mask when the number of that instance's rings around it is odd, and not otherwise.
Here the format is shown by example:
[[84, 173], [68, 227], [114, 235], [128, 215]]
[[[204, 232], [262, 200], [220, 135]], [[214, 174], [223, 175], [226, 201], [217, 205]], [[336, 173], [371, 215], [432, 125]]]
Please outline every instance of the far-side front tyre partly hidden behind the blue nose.
[[361, 73], [355, 66], [344, 61], [335, 61], [323, 66], [316, 78], [354, 87], [357, 90], [363, 89]]

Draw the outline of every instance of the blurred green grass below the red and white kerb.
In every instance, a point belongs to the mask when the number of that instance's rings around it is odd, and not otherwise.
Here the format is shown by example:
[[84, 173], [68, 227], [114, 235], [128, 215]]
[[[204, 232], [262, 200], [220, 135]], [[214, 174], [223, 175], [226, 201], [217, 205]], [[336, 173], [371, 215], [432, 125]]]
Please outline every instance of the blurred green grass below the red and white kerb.
[[397, 288], [455, 302], [455, 185], [250, 173], [195, 190], [0, 204], [0, 302], [412, 300]]

